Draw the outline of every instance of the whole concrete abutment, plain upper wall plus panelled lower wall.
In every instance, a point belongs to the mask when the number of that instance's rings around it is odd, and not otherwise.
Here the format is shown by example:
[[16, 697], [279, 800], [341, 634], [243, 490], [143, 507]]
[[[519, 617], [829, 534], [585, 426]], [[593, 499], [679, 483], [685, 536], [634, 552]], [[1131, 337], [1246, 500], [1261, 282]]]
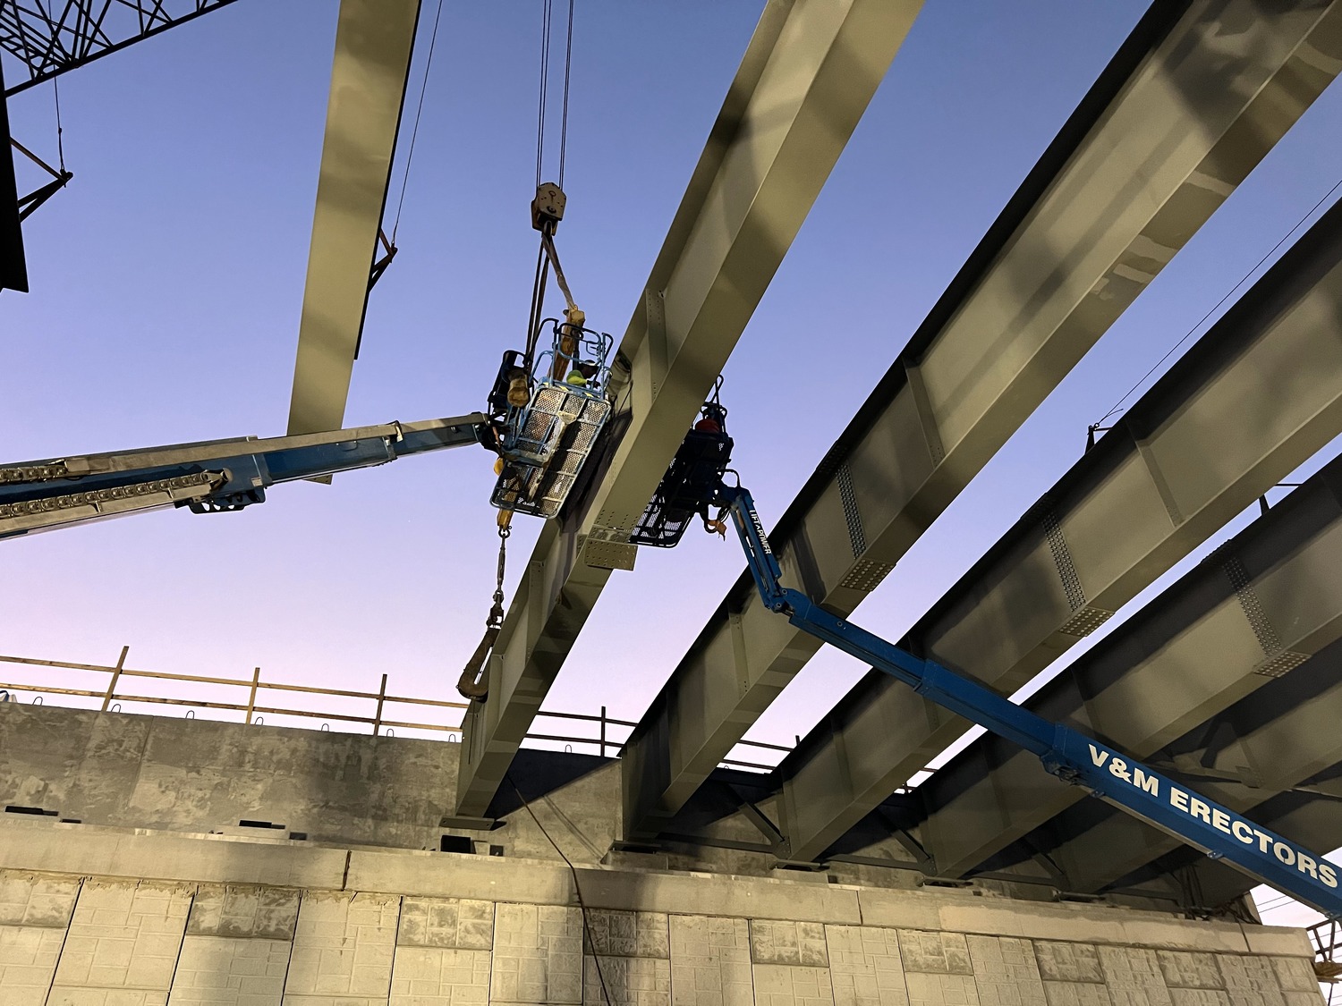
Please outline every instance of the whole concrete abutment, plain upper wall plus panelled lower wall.
[[[464, 832], [487, 854], [437, 852], [455, 765], [436, 742], [0, 707], [0, 799], [56, 812], [0, 813], [0, 1006], [1319, 1006], [1295, 930], [612, 852], [596, 758], [514, 770], [572, 868], [515, 794]], [[702, 810], [750, 836], [730, 801]], [[238, 825], [258, 818], [285, 828]]]

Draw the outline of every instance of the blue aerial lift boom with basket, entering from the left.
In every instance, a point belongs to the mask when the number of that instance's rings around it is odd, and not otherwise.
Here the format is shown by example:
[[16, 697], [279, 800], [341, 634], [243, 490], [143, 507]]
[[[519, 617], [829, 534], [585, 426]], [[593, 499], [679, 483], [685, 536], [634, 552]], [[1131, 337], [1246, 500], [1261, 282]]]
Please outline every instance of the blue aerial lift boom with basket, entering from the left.
[[582, 314], [570, 307], [568, 321], [537, 322], [537, 338], [552, 331], [549, 349], [531, 341], [525, 354], [503, 355], [488, 414], [0, 464], [0, 538], [161, 507], [242, 510], [276, 483], [464, 444], [499, 455], [491, 502], [506, 511], [501, 531], [513, 511], [556, 516], [611, 414], [612, 339], [574, 318]]

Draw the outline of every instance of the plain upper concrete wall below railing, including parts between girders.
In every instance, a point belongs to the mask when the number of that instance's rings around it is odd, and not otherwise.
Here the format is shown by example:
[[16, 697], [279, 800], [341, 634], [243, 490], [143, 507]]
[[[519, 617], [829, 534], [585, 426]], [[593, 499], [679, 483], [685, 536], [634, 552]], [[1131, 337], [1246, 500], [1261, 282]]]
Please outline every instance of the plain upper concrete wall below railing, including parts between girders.
[[[443, 826], [456, 802], [459, 744], [290, 727], [0, 704], [0, 806], [42, 809], [85, 825], [238, 834], [240, 821], [282, 828], [307, 844], [437, 849], [443, 834], [506, 856], [558, 860], [511, 786], [491, 830]], [[741, 783], [760, 777], [727, 773]], [[620, 766], [613, 758], [519, 752], [510, 777], [576, 862], [600, 862], [620, 836]], [[777, 860], [725, 789], [701, 798], [696, 828], [733, 848], [680, 844], [662, 865], [769, 875]], [[752, 798], [764, 795], [752, 793]], [[721, 802], [721, 799], [718, 801]], [[739, 805], [739, 797], [735, 797]], [[764, 810], [769, 813], [768, 802]], [[302, 836], [298, 838], [297, 836]], [[752, 845], [757, 850], [752, 850]], [[882, 854], [913, 867], [888, 842]], [[864, 883], [913, 885], [914, 873], [844, 867]]]

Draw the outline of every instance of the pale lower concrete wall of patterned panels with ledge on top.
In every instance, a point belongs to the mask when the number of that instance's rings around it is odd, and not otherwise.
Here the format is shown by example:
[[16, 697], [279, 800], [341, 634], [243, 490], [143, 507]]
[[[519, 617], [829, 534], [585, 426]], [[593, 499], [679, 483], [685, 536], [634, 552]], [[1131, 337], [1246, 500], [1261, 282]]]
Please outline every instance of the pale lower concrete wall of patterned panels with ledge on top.
[[[930, 892], [872, 913], [964, 931], [825, 921], [813, 884], [735, 884], [739, 915], [670, 896], [682, 911], [589, 907], [584, 920], [573, 904], [0, 869], [0, 1006], [1321, 1003], [1296, 931], [1092, 907], [1013, 916]], [[789, 904], [820, 917], [746, 915]]]

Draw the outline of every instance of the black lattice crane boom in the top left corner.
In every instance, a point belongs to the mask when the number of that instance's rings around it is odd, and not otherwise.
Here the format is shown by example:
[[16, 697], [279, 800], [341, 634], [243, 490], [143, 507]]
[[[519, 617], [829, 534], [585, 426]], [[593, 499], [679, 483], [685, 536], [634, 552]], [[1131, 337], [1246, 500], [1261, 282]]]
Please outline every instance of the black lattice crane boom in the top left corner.
[[234, 0], [0, 0], [0, 50], [28, 70], [17, 94]]

